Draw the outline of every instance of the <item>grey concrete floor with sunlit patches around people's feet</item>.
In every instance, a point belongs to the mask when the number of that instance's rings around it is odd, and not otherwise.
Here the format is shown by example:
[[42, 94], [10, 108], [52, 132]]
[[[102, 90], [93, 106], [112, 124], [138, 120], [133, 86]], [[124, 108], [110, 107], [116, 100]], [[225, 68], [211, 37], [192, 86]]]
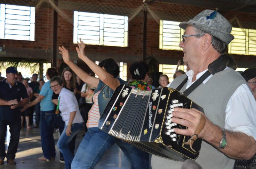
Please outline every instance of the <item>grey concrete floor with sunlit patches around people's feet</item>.
[[[60, 137], [59, 131], [54, 132], [55, 144]], [[82, 132], [78, 133], [76, 137], [76, 150], [82, 140]], [[10, 141], [10, 133], [7, 133], [6, 137], [6, 150]], [[39, 128], [31, 128], [31, 130], [21, 129], [20, 131], [20, 143], [18, 152], [16, 153], [17, 165], [6, 164], [6, 158], [4, 165], [0, 165], [0, 169], [64, 169], [65, 164], [59, 162], [60, 154], [56, 148], [56, 158], [50, 162], [39, 161], [38, 158], [43, 155], [40, 141]], [[95, 166], [95, 169], [129, 169], [130, 163], [125, 158], [123, 152], [115, 144], [109, 149], [100, 162]]]

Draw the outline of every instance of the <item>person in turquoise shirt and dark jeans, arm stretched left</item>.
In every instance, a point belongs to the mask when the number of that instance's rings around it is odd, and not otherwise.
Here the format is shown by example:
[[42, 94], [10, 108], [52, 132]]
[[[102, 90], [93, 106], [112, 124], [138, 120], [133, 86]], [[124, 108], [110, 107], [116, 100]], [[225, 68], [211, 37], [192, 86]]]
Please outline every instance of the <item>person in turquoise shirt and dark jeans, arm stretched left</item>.
[[[51, 67], [46, 71], [46, 78], [50, 80], [54, 76], [58, 76], [57, 69], [55, 67]], [[55, 143], [53, 138], [53, 130], [54, 130], [54, 112], [53, 112], [53, 102], [52, 102], [52, 89], [50, 81], [44, 83], [38, 97], [33, 101], [27, 104], [20, 111], [28, 109], [31, 106], [36, 105], [40, 102], [40, 135], [41, 135], [41, 144], [43, 149], [44, 156], [38, 158], [43, 161], [50, 161], [55, 158]]]

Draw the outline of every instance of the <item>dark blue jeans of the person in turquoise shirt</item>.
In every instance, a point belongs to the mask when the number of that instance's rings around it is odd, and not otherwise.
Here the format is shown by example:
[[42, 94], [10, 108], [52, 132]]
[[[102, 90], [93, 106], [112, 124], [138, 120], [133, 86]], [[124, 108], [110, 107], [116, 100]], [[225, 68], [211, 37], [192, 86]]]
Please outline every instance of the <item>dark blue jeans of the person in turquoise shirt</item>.
[[40, 114], [40, 135], [44, 157], [55, 158], [55, 143], [53, 138], [54, 118], [53, 110], [41, 111]]

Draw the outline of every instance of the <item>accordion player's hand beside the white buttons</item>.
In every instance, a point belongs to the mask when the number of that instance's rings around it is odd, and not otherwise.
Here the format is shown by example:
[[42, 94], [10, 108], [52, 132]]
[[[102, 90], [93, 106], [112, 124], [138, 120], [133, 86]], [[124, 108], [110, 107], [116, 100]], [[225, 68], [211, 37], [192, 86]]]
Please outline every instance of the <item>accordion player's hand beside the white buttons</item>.
[[[186, 126], [187, 129], [174, 129], [174, 132], [181, 135], [193, 136], [196, 134], [199, 138], [201, 136], [201, 131], [204, 128], [204, 122], [200, 123], [201, 119], [205, 119], [204, 113], [197, 109], [183, 109], [183, 108], [174, 108], [174, 112], [172, 113], [173, 123], [177, 123], [183, 126]], [[204, 116], [204, 118], [202, 118]], [[202, 137], [202, 136], [201, 136]]]

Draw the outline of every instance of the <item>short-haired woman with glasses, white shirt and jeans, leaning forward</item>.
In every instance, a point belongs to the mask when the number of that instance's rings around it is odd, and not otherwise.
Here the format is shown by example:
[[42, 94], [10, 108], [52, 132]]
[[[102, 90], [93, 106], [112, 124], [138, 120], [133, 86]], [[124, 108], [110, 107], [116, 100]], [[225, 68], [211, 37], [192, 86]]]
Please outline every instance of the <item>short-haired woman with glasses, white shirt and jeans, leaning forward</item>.
[[64, 130], [60, 135], [57, 148], [63, 154], [65, 160], [65, 168], [71, 168], [71, 162], [74, 154], [69, 150], [69, 143], [72, 138], [83, 127], [83, 118], [80, 114], [78, 102], [75, 95], [69, 89], [64, 88], [64, 82], [58, 76], [51, 79], [51, 88], [58, 97], [58, 109], [61, 111], [60, 116], [64, 121]]

